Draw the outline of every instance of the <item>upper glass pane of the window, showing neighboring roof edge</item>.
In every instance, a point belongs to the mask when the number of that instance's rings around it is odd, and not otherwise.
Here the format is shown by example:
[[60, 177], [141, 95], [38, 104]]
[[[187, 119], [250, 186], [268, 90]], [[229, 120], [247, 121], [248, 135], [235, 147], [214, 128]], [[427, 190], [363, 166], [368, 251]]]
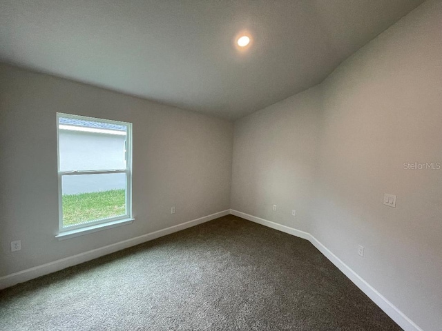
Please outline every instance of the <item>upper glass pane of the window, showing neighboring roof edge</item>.
[[126, 126], [59, 117], [60, 171], [126, 169]]

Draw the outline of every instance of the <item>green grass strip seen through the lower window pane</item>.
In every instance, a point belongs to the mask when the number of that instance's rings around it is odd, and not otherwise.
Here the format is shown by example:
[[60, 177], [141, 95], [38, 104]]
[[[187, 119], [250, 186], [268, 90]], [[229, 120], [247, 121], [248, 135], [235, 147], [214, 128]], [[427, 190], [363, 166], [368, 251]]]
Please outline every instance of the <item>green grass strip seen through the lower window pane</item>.
[[126, 214], [125, 190], [66, 194], [63, 199], [63, 226]]

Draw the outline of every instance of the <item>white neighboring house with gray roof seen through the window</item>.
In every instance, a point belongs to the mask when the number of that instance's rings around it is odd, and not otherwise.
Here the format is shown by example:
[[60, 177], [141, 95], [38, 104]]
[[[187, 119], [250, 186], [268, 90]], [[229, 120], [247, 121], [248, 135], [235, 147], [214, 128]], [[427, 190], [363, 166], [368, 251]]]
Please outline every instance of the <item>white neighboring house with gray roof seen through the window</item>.
[[[60, 170], [126, 168], [126, 127], [59, 118]], [[126, 174], [70, 175], [62, 179], [63, 194], [126, 188]]]

